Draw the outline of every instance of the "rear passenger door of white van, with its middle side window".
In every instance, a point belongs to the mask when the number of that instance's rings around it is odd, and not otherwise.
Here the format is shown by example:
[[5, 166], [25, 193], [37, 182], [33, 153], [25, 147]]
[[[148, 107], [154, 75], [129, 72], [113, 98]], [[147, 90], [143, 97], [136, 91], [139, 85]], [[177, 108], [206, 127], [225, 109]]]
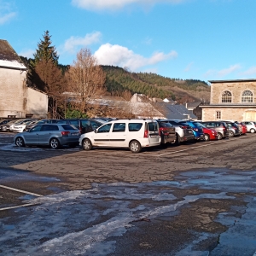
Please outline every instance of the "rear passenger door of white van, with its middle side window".
[[127, 125], [124, 122], [113, 123], [109, 133], [109, 144], [111, 147], [125, 147], [127, 139]]

